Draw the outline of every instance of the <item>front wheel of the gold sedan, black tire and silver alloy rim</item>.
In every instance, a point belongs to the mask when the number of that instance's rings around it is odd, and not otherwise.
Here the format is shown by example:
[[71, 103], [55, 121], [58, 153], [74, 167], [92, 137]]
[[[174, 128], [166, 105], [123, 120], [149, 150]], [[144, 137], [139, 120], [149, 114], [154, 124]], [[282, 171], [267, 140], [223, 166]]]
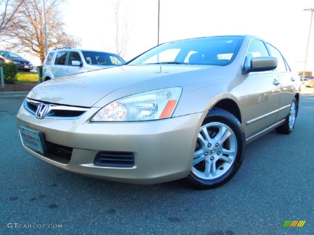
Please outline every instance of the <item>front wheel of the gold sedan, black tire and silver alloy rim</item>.
[[213, 108], [199, 130], [192, 169], [184, 181], [199, 189], [226, 183], [241, 166], [245, 142], [239, 120], [230, 112]]

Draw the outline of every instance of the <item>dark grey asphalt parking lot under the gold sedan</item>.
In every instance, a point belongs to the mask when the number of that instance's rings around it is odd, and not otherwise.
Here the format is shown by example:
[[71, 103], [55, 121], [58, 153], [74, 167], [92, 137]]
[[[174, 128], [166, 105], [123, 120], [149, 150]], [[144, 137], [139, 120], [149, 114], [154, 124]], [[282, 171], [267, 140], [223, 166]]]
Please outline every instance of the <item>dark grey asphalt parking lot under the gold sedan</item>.
[[[313, 91], [303, 92], [290, 135], [272, 131], [248, 144], [236, 176], [212, 190], [122, 184], [49, 165], [21, 148], [15, 117], [24, 96], [0, 94], [0, 234], [314, 234]], [[306, 222], [283, 227], [290, 220]]]

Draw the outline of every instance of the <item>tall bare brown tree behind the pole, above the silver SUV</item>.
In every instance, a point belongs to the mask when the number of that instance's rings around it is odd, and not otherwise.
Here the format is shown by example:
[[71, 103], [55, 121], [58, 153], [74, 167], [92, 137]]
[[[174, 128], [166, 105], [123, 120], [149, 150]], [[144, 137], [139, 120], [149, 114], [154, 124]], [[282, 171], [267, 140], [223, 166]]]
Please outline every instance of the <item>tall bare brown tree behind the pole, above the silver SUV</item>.
[[[38, 56], [43, 63], [45, 46], [41, 0], [15, 0], [15, 2], [20, 7], [16, 12], [18, 21], [13, 20], [7, 30], [7, 35], [12, 39], [9, 48], [30, 52]], [[48, 48], [80, 45], [81, 39], [76, 39], [63, 31], [65, 24], [59, 7], [63, 2], [63, 0], [45, 1]]]

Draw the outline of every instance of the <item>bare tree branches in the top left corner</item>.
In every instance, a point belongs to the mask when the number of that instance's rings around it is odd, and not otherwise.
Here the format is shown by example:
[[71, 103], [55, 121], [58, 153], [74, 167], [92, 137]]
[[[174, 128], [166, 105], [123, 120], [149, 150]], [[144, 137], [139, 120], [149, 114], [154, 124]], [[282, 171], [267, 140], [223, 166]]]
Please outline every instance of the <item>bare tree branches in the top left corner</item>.
[[5, 32], [14, 26], [12, 21], [19, 23], [16, 13], [23, 2], [24, 0], [21, 0], [18, 4], [14, 4], [14, 1], [0, 0], [0, 9], [3, 9], [0, 14], [0, 42], [5, 40]]

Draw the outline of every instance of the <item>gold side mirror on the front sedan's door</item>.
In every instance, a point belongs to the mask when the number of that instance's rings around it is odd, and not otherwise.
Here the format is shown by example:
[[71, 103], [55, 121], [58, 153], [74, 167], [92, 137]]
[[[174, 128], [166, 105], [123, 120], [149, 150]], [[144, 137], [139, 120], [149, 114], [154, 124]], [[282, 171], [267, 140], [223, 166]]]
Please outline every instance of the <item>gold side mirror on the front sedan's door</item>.
[[270, 71], [277, 68], [278, 60], [273, 56], [258, 56], [249, 61], [249, 66], [243, 67], [242, 74], [249, 72]]

